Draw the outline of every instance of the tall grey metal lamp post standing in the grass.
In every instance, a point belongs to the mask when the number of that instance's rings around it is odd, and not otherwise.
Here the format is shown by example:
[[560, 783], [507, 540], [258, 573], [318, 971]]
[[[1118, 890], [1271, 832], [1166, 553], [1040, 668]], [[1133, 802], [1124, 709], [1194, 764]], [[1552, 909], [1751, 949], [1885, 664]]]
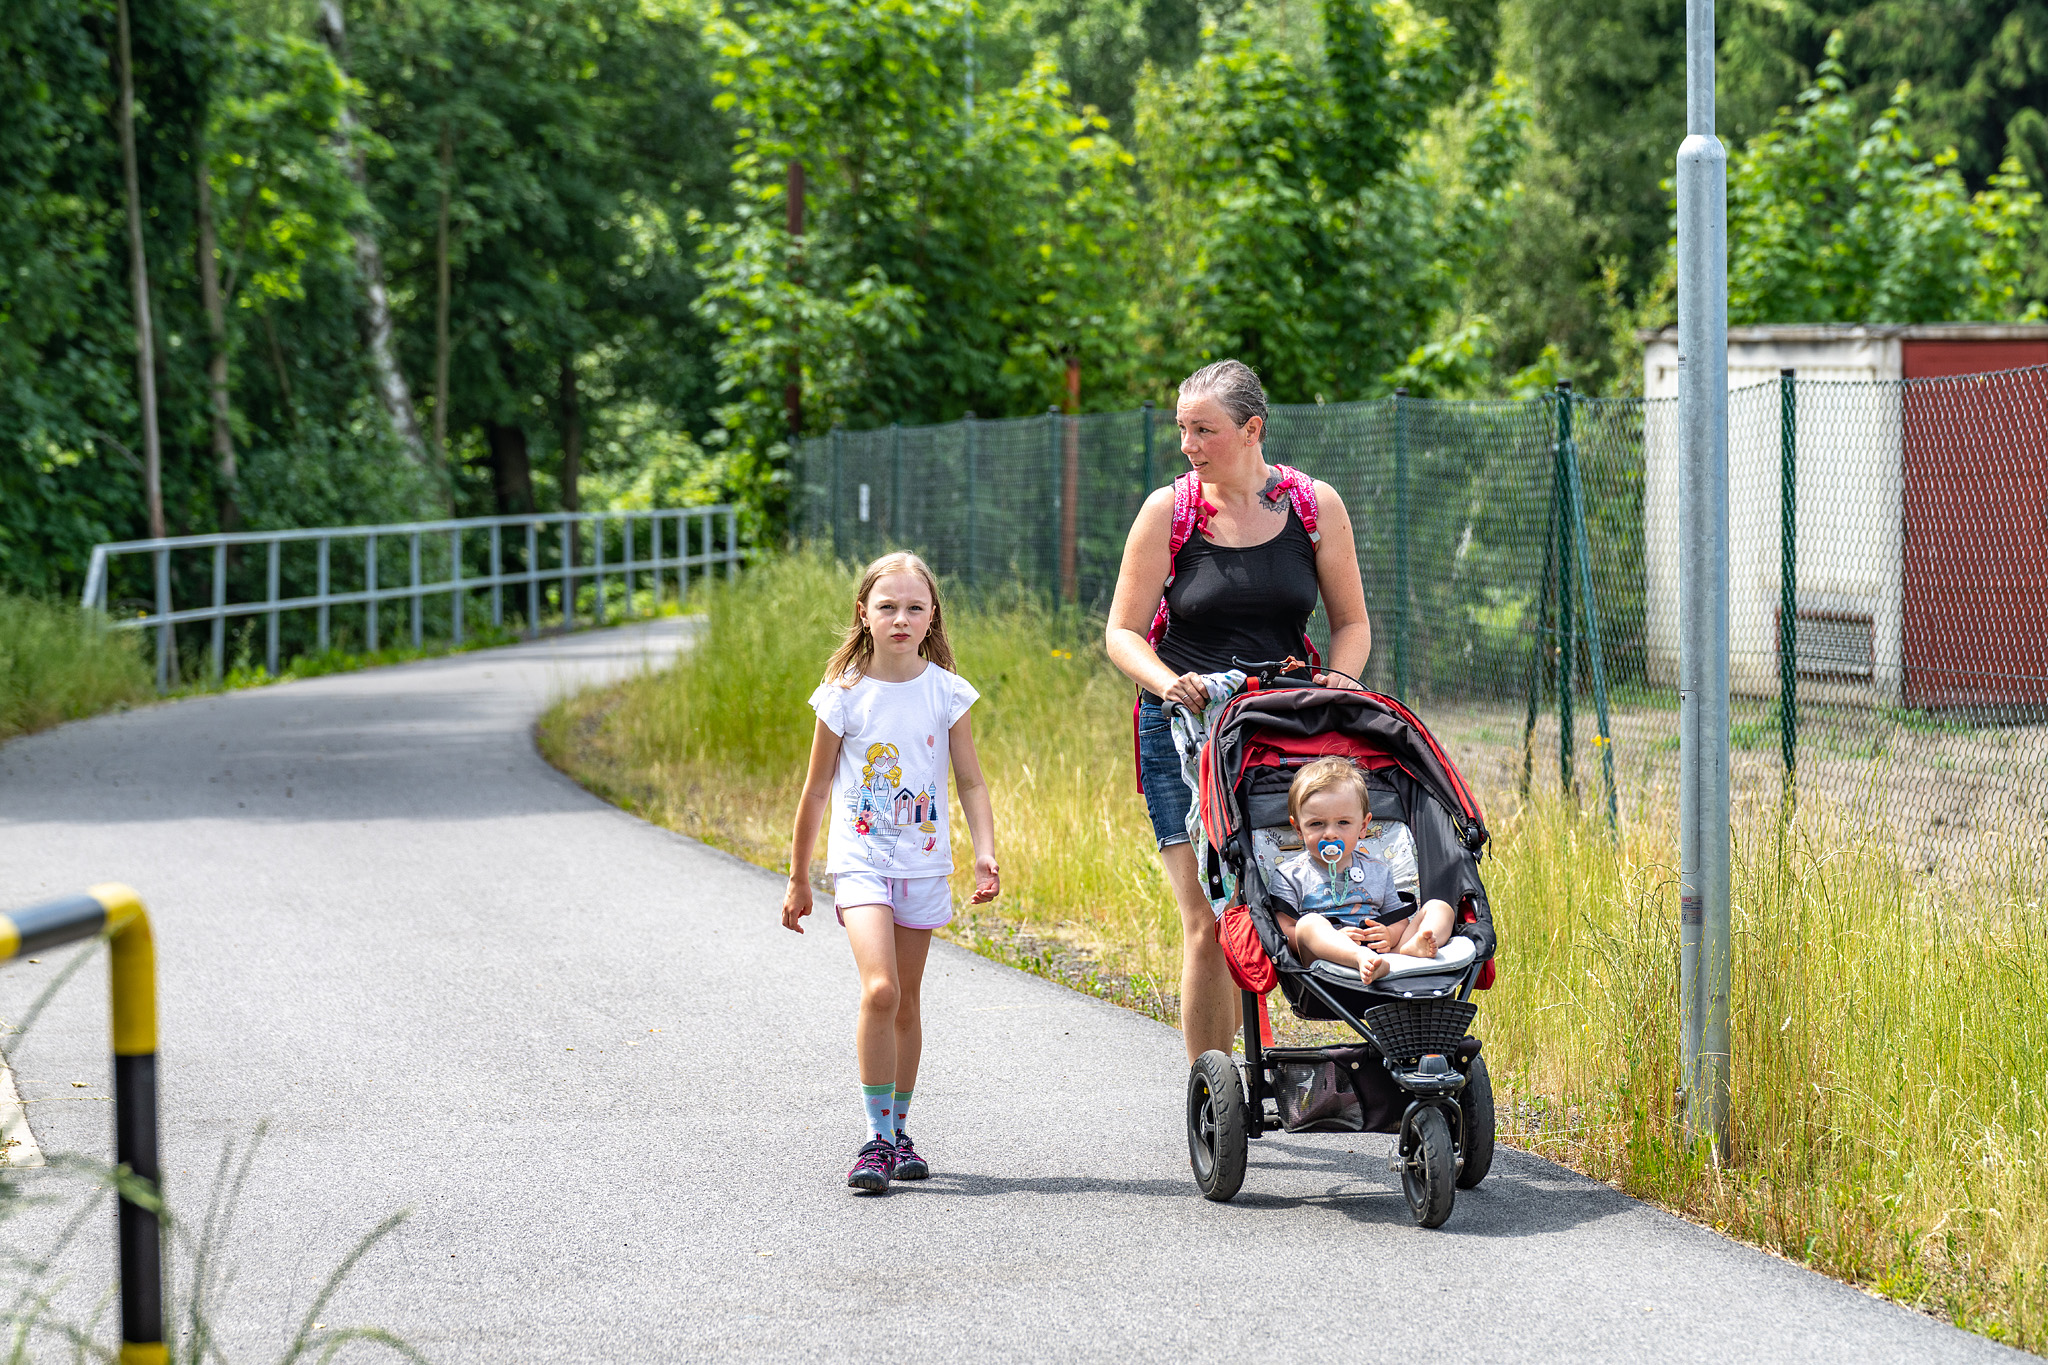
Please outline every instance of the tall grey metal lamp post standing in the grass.
[[1729, 153], [1714, 0], [1686, 0], [1677, 149], [1679, 1072], [1686, 1132], [1729, 1146]]

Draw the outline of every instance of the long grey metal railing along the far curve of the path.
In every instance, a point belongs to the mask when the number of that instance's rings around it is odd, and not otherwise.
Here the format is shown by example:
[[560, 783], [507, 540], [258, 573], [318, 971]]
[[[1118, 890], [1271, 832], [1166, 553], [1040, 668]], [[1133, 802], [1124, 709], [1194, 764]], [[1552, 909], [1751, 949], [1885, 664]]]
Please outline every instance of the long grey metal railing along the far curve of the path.
[[[262, 546], [262, 585], [254, 593], [236, 598], [229, 591], [231, 583], [236, 579], [248, 583], [254, 565], [238, 563], [231, 571], [229, 559], [244, 559], [236, 551], [248, 546]], [[393, 583], [385, 577], [385, 567], [397, 557], [399, 546], [406, 567], [401, 581]], [[612, 546], [618, 555], [608, 559]], [[180, 577], [190, 581], [195, 575], [188, 569], [180, 573], [174, 557], [193, 551], [211, 553], [211, 575], [207, 571], [197, 575], [201, 581], [211, 577], [211, 602], [180, 608], [172, 602], [174, 583]], [[307, 557], [311, 563], [305, 563]], [[424, 641], [426, 604], [444, 598], [449, 639], [461, 645], [483, 593], [489, 593], [489, 624], [502, 628], [506, 589], [516, 593], [524, 587], [524, 604], [514, 600], [512, 608], [522, 616], [524, 632], [530, 636], [541, 630], [549, 610], [563, 628], [573, 628], [586, 587], [592, 624], [604, 624], [612, 610], [612, 587], [618, 589], [621, 614], [631, 618], [639, 614], [639, 579], [645, 579], [651, 591], [649, 608], [659, 610], [666, 575], [674, 575], [676, 602], [682, 604], [690, 593], [692, 571], [700, 569], [709, 577], [723, 565], [725, 577], [731, 577], [741, 557], [739, 510], [729, 503], [659, 512], [539, 512], [387, 526], [221, 532], [94, 546], [82, 604], [98, 608], [123, 630], [156, 626], [156, 684], [162, 690], [172, 681], [180, 624], [211, 624], [209, 671], [219, 677], [227, 663], [227, 622], [264, 618], [264, 669], [276, 673], [287, 612], [313, 612], [309, 645], [315, 653], [326, 653], [334, 641], [336, 608], [360, 608], [360, 643], [375, 653], [383, 639], [381, 604], [410, 604], [410, 634], [418, 647]], [[115, 596], [113, 579], [121, 563], [135, 559], [147, 559], [152, 569], [147, 596]], [[287, 563], [293, 559], [299, 563]], [[344, 561], [342, 573], [338, 559]], [[360, 579], [362, 587], [336, 589], [342, 577]], [[111, 610], [131, 604], [133, 612]]]

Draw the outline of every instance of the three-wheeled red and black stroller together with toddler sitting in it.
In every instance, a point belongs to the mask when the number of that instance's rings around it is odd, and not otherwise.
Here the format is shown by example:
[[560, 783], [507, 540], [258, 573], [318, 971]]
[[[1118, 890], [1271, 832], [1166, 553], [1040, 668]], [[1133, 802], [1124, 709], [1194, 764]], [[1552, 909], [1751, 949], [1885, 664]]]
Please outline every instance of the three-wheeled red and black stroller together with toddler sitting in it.
[[[1229, 679], [1188, 737], [1190, 835], [1245, 1021], [1243, 1058], [1204, 1052], [1188, 1074], [1194, 1183], [1231, 1199], [1247, 1140], [1274, 1130], [1397, 1134], [1391, 1169], [1415, 1222], [1436, 1228], [1493, 1164], [1493, 1087], [1470, 1033], [1495, 943], [1479, 802], [1395, 698], [1315, 686], [1296, 661], [1239, 667], [1251, 675]], [[1313, 774], [1327, 774], [1323, 800]], [[1352, 835], [1360, 790], [1368, 819]], [[1274, 988], [1296, 1017], [1360, 1042], [1274, 1046]]]

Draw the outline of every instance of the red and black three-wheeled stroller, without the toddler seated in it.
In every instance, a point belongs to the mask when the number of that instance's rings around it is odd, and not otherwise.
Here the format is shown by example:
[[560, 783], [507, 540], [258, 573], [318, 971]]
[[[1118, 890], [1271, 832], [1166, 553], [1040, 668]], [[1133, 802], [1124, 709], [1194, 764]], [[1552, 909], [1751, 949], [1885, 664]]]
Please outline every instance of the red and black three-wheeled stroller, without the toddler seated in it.
[[[1262, 671], [1210, 708], [1196, 792], [1196, 855], [1223, 911], [1219, 937], [1243, 986], [1245, 1056], [1204, 1052], [1188, 1076], [1188, 1154], [1208, 1199], [1231, 1199], [1245, 1179], [1247, 1140], [1266, 1132], [1399, 1134], [1393, 1169], [1423, 1228], [1450, 1218], [1458, 1189], [1493, 1164], [1493, 1087], [1473, 990], [1493, 984], [1493, 913], [1479, 882], [1487, 843], [1479, 802], [1430, 731], [1376, 692], [1300, 686], [1296, 661]], [[1274, 860], [1292, 831], [1286, 792], [1315, 757], [1343, 755], [1366, 769], [1374, 829], [1413, 839], [1421, 900], [1456, 917], [1438, 962], [1364, 984], [1331, 962], [1303, 966], [1266, 898]], [[1298, 845], [1294, 845], [1298, 847]], [[1405, 849], [1405, 841], [1403, 841]], [[1262, 1038], [1264, 993], [1278, 984], [1300, 1019], [1341, 1019], [1364, 1040], [1337, 1048], [1276, 1048]], [[1239, 1074], [1241, 1072], [1241, 1074]]]

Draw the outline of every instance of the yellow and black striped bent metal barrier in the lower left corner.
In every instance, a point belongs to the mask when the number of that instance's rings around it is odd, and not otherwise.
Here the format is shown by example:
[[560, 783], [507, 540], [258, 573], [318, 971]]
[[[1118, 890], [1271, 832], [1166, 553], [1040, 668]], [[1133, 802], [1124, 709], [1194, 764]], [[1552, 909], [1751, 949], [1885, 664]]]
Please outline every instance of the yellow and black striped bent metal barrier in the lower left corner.
[[[156, 943], [150, 915], [119, 882], [0, 915], [0, 962], [106, 935], [113, 956], [115, 1162], [158, 1189], [156, 1158]], [[121, 1244], [121, 1365], [162, 1365], [164, 1234], [156, 1209], [117, 1201]]]

